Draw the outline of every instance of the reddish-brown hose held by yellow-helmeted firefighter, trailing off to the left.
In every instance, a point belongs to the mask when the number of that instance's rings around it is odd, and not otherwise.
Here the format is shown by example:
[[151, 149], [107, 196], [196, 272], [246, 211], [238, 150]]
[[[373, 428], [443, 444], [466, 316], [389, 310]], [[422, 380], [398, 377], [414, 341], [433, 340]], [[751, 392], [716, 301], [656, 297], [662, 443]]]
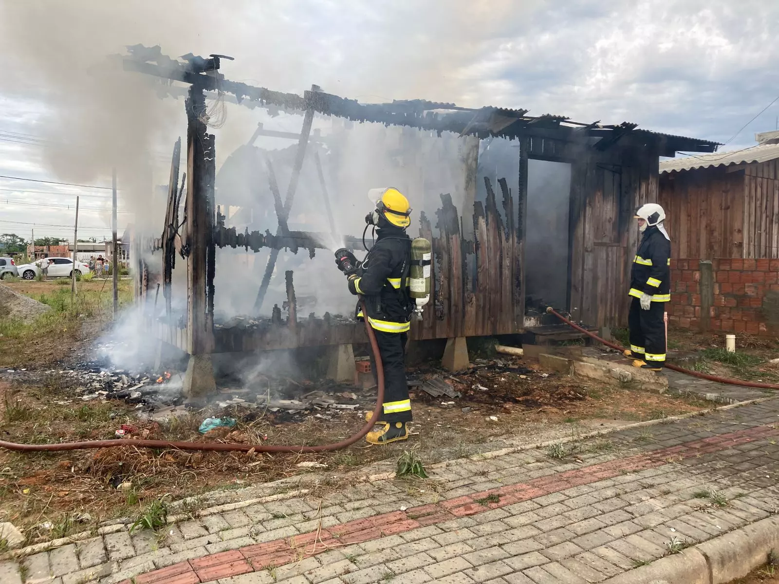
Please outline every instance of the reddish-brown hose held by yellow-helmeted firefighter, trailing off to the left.
[[[360, 298], [362, 313], [368, 314], [365, 310], [365, 301]], [[17, 444], [16, 442], [5, 442], [0, 440], [0, 448], [16, 450], [21, 452], [59, 452], [62, 450], [83, 450], [83, 449], [108, 449], [117, 446], [144, 446], [150, 449], [178, 449], [178, 450], [213, 450], [216, 452], [246, 452], [254, 449], [255, 452], [332, 452], [333, 450], [344, 449], [364, 438], [365, 434], [371, 431], [375, 424], [373, 420], [379, 419], [379, 413], [382, 411], [384, 402], [384, 368], [382, 366], [381, 355], [379, 354], [379, 345], [376, 343], [376, 336], [368, 318], [365, 318], [365, 332], [368, 333], [368, 339], [371, 342], [375, 366], [376, 382], [379, 390], [376, 395], [376, 405], [373, 413], [365, 426], [357, 434], [346, 438], [335, 444], [325, 444], [320, 446], [274, 446], [265, 444], [227, 444], [224, 442], [168, 442], [167, 440], [126, 440], [115, 438], [112, 440], [88, 440], [86, 442], [61, 442], [59, 444]]]

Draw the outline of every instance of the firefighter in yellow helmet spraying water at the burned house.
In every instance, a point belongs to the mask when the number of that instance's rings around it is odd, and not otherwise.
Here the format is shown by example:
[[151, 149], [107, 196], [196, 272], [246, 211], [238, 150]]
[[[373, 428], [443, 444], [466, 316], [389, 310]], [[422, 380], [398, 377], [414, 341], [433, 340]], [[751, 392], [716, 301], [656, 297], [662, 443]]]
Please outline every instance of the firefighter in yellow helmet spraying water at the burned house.
[[[367, 315], [358, 304], [357, 317], [368, 318], [379, 345], [384, 367], [384, 402], [378, 430], [365, 439], [371, 444], [388, 444], [408, 438], [411, 400], [406, 383], [406, 342], [414, 304], [408, 293], [411, 266], [411, 238], [406, 227], [411, 223], [411, 207], [397, 188], [371, 189], [368, 197], [375, 209], [365, 223], [376, 228], [376, 242], [362, 262], [351, 252], [340, 249], [336, 263], [346, 273], [352, 294], [365, 300]], [[371, 355], [373, 361], [373, 355]], [[375, 375], [375, 363], [373, 363]]]

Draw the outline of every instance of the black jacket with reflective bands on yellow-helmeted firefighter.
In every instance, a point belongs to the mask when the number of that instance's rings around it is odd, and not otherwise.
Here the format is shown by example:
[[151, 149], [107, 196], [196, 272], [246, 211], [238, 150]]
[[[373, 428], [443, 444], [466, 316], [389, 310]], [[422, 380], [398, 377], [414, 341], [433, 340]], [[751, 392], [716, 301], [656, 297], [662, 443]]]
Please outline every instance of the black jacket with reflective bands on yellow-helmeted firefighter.
[[[411, 300], [407, 280], [411, 265], [411, 238], [400, 227], [382, 227], [376, 243], [358, 263], [356, 278], [349, 280], [349, 291], [362, 294], [368, 322], [383, 332], [407, 332], [411, 318]], [[360, 306], [357, 316], [361, 317]]]

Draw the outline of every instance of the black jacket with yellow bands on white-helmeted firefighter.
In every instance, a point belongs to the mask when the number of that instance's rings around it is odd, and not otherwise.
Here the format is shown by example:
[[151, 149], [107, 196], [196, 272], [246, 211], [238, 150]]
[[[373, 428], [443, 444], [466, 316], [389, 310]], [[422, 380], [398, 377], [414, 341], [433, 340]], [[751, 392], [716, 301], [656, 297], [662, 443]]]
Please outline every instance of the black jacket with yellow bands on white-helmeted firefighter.
[[649, 294], [653, 302], [671, 301], [671, 241], [657, 226], [647, 227], [630, 270], [630, 296]]

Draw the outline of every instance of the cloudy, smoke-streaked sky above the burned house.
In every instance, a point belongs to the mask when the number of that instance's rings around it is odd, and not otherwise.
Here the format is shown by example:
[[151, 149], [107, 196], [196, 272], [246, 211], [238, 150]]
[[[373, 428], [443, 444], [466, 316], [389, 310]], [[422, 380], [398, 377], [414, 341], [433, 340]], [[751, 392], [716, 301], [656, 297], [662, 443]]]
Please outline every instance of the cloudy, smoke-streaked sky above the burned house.
[[[228, 78], [276, 90], [633, 121], [733, 150], [777, 127], [779, 101], [747, 124], [779, 95], [776, 23], [765, 0], [0, 0], [0, 233], [72, 237], [81, 195], [79, 237], [110, 234], [109, 190], [5, 177], [107, 187], [117, 166], [120, 231], [143, 213], [133, 192], [165, 181], [183, 104], [104, 71], [125, 45], [231, 55]], [[257, 121], [229, 107], [220, 158]]]

